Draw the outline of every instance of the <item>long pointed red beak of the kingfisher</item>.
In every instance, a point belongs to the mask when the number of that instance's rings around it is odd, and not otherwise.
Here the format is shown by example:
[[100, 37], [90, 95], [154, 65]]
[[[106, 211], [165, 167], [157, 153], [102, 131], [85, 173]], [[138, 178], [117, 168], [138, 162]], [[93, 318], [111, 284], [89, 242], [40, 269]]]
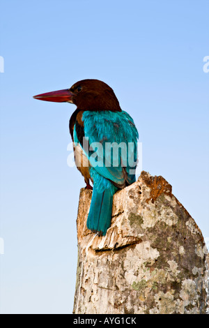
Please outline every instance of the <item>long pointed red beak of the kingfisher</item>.
[[45, 101], [54, 101], [55, 103], [72, 103], [72, 96], [75, 96], [69, 89], [47, 92], [47, 94], [38, 94], [33, 98]]

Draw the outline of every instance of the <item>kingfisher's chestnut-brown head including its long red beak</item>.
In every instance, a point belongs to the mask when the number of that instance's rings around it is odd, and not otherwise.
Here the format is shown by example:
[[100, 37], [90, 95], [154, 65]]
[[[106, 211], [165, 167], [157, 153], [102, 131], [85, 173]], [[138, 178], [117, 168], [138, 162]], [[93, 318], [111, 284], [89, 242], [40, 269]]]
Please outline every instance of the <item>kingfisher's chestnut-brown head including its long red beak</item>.
[[56, 103], [73, 103], [78, 110], [111, 110], [121, 112], [113, 89], [100, 80], [81, 80], [70, 89], [39, 94], [33, 98]]

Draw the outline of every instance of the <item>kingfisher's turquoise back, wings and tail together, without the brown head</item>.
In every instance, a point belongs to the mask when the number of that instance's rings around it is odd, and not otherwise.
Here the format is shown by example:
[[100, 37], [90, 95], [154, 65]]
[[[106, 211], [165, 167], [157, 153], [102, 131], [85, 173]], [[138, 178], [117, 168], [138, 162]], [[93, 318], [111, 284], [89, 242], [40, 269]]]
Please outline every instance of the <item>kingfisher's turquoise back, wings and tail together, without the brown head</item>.
[[135, 181], [139, 135], [132, 117], [124, 111], [86, 111], [82, 121], [90, 148], [79, 142], [76, 128], [74, 142], [79, 143], [91, 164], [93, 196], [87, 227], [104, 235], [111, 224], [114, 193]]

